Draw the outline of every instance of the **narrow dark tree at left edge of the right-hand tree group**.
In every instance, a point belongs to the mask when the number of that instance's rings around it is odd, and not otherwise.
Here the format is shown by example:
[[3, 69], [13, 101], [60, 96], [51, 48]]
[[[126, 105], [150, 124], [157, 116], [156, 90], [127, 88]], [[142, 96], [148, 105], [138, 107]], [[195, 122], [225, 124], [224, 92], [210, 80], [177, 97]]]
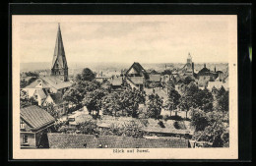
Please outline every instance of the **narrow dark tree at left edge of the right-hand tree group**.
[[170, 88], [168, 92], [168, 99], [165, 101], [165, 105], [170, 112], [175, 110], [179, 104], [180, 94], [174, 89]]

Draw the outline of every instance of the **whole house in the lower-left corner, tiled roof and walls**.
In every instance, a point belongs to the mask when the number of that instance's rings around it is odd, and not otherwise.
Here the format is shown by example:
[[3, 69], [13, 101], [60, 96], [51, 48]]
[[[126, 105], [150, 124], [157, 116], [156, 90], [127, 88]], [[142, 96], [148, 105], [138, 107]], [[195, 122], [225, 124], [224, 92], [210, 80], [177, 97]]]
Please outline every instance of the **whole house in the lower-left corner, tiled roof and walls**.
[[20, 110], [21, 148], [48, 147], [46, 133], [55, 119], [45, 110], [32, 105]]

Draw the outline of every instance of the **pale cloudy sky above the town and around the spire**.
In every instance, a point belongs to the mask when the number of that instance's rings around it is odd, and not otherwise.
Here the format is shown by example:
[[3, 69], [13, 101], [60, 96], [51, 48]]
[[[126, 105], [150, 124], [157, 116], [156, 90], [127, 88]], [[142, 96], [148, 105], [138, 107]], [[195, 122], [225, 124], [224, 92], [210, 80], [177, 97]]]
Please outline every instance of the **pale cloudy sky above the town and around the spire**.
[[20, 62], [52, 61], [58, 23], [68, 63], [185, 63], [188, 53], [195, 63], [228, 62], [228, 17], [145, 18], [26, 19], [18, 25]]

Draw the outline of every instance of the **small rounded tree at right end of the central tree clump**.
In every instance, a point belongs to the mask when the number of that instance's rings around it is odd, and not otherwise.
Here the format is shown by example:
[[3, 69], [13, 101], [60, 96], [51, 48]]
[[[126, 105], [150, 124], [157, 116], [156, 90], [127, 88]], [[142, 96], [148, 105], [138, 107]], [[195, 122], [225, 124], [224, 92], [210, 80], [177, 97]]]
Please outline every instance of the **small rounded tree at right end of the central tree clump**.
[[162, 106], [162, 100], [160, 99], [159, 94], [151, 94], [149, 95], [149, 99], [147, 101], [147, 113], [150, 118], [159, 119], [160, 110]]

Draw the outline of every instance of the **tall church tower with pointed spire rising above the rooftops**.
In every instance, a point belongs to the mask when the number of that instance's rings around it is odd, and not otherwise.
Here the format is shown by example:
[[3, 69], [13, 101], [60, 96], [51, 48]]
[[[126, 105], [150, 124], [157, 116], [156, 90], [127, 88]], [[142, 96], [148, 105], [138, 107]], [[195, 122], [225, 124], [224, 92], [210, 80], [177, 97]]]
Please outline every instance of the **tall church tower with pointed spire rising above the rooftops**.
[[59, 77], [63, 82], [68, 81], [68, 64], [65, 56], [60, 25], [58, 25], [56, 44], [51, 66], [51, 76]]

